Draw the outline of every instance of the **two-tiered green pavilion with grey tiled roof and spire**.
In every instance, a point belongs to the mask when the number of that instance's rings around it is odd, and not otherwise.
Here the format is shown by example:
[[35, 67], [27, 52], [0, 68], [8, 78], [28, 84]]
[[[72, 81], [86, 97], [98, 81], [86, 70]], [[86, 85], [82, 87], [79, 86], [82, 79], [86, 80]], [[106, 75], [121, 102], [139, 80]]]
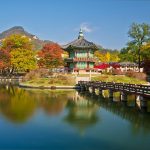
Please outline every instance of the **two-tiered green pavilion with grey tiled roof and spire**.
[[97, 46], [84, 38], [80, 29], [78, 39], [63, 47], [69, 54], [69, 58], [65, 60], [69, 71], [89, 72], [94, 69], [95, 59], [94, 52]]

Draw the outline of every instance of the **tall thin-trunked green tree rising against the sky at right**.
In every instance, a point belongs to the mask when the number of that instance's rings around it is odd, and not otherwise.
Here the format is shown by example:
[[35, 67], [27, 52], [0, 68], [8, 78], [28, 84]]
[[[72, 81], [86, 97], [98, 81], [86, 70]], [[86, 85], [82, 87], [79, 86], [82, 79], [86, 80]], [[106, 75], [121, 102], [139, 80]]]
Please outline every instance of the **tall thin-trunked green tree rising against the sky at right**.
[[141, 66], [141, 48], [143, 44], [150, 40], [150, 25], [133, 23], [129, 32], [129, 37], [132, 39], [128, 46], [138, 56], [139, 71]]

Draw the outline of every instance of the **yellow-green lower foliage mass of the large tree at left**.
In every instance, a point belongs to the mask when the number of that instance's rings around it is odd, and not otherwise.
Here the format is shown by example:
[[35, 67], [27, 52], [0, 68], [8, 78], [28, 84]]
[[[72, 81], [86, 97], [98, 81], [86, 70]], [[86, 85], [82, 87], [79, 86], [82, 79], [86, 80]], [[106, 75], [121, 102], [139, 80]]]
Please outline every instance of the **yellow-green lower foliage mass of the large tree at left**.
[[36, 68], [35, 54], [32, 50], [17, 48], [11, 52], [11, 65], [19, 71], [28, 71]]

